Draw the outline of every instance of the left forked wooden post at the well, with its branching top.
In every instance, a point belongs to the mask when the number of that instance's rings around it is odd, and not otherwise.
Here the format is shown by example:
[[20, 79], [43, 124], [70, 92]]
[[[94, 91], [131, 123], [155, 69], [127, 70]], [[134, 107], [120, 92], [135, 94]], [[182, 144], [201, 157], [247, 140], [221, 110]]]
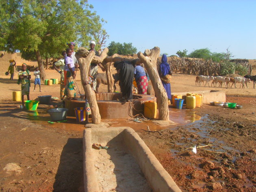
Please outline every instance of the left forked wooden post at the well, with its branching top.
[[80, 47], [78, 49], [78, 52], [76, 52], [76, 59], [78, 60], [81, 74], [81, 83], [85, 90], [85, 95], [87, 96], [91, 108], [92, 123], [94, 124], [100, 124], [100, 111], [98, 108], [95, 92], [92, 90], [91, 85], [85, 85], [85, 81], [88, 81], [88, 72], [90, 69], [91, 61], [93, 60], [93, 62], [97, 64], [102, 63], [102, 61], [106, 57], [107, 52], [108, 49], [105, 48], [100, 56], [95, 56], [95, 52], [89, 52], [84, 47]]

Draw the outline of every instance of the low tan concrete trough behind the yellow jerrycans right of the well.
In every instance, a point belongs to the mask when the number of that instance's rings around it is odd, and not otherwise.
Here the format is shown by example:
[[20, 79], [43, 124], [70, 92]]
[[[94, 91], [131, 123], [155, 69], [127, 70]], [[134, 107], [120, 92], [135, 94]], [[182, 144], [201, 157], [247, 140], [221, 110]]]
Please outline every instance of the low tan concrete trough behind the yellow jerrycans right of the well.
[[[187, 93], [191, 93], [191, 92], [188, 91], [188, 92], [172, 93], [171, 97], [173, 95], [182, 95], [182, 99], [185, 99], [185, 101], [186, 101]], [[209, 104], [211, 101], [226, 102], [226, 93], [225, 93], [225, 91], [206, 90], [206, 91], [193, 91], [193, 93], [203, 95], [203, 104]]]

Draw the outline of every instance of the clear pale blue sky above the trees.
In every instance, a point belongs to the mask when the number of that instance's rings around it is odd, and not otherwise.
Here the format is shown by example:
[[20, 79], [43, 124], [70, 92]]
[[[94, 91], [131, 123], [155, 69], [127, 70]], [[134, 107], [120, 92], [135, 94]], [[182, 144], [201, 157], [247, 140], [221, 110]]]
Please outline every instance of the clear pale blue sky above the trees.
[[160, 47], [209, 48], [234, 58], [256, 59], [256, 0], [88, 0], [110, 36], [106, 42], [132, 43], [138, 52]]

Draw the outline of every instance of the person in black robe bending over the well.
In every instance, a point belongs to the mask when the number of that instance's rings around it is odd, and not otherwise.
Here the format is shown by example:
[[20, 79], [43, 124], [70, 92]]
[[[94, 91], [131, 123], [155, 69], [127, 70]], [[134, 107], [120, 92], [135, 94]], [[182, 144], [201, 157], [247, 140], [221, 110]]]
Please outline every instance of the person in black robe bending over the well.
[[132, 82], [134, 77], [134, 67], [130, 61], [117, 61], [114, 67], [119, 74], [119, 85], [122, 92], [120, 101], [130, 101], [132, 99]]

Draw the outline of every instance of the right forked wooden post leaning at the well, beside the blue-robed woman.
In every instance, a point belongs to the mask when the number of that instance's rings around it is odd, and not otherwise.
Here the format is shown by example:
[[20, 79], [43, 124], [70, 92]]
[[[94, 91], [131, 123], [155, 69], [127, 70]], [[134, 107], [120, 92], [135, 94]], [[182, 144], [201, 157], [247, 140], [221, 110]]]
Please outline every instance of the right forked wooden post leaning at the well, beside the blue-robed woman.
[[150, 80], [152, 82], [152, 86], [156, 93], [156, 99], [158, 104], [158, 119], [163, 121], [169, 121], [169, 108], [168, 108], [168, 97], [159, 77], [156, 61], [160, 54], [160, 48], [154, 47], [152, 50], [145, 50], [145, 53], [138, 53], [138, 58], [144, 63], [148, 75], [150, 76]]

